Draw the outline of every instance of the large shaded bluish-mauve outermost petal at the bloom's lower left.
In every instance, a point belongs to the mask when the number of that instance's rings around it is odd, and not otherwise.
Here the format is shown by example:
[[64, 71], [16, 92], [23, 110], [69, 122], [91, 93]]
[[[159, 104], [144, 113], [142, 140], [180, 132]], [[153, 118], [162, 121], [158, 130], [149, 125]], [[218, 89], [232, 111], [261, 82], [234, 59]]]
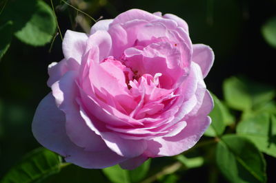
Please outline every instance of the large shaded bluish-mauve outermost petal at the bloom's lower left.
[[108, 149], [90, 152], [73, 144], [66, 135], [65, 116], [55, 105], [52, 94], [39, 103], [32, 121], [32, 133], [44, 147], [65, 156], [67, 162], [84, 168], [102, 169], [127, 160]]

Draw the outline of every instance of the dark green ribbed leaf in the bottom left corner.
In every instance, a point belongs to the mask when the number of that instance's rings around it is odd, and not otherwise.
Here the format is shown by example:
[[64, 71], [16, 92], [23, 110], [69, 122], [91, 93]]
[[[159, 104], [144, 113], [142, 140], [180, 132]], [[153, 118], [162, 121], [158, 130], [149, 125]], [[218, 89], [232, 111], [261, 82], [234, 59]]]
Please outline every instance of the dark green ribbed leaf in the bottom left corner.
[[61, 158], [56, 153], [43, 148], [35, 149], [12, 167], [0, 182], [39, 182], [49, 175], [58, 173], [60, 165]]

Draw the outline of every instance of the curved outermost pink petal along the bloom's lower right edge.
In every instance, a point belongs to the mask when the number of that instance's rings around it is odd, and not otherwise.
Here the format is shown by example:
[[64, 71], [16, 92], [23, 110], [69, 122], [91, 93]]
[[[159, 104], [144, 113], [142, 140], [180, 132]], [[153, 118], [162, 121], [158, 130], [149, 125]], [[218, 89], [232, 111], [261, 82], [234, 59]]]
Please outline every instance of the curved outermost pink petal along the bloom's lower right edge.
[[[198, 114], [188, 118], [187, 126], [176, 136], [155, 138], [148, 142], [148, 150], [152, 153], [152, 149], [159, 148], [154, 156], [171, 156], [177, 155], [193, 147], [204, 131], [209, 127], [211, 119], [207, 114], [213, 109], [213, 99], [209, 92], [206, 92], [204, 101]], [[160, 147], [161, 144], [161, 147]], [[153, 154], [153, 153], [152, 153]]]

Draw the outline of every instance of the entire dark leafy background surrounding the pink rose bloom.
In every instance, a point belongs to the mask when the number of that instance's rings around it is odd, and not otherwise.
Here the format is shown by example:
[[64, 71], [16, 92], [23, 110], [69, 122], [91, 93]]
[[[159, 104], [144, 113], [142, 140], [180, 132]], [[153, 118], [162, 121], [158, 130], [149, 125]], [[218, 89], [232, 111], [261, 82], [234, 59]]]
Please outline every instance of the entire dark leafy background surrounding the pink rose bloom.
[[1, 183], [275, 182], [275, 1], [66, 1], [94, 19], [114, 18], [130, 8], [177, 14], [187, 21], [193, 43], [215, 52], [206, 78], [215, 108], [204, 137], [180, 155], [148, 160], [133, 171], [82, 169], [36, 149], [32, 116], [50, 91], [47, 65], [63, 57], [56, 19], [61, 34], [89, 32], [93, 24], [63, 1], [52, 2], [57, 17], [50, 1], [0, 1]]

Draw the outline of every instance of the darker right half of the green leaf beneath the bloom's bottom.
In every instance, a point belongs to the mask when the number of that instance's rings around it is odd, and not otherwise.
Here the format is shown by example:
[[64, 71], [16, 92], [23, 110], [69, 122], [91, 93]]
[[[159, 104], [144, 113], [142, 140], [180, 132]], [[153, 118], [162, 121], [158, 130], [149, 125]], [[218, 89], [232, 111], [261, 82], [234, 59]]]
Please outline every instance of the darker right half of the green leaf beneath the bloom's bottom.
[[146, 177], [148, 170], [150, 169], [150, 161], [151, 160], [149, 159], [136, 169], [128, 171], [130, 182], [140, 182], [144, 177]]

